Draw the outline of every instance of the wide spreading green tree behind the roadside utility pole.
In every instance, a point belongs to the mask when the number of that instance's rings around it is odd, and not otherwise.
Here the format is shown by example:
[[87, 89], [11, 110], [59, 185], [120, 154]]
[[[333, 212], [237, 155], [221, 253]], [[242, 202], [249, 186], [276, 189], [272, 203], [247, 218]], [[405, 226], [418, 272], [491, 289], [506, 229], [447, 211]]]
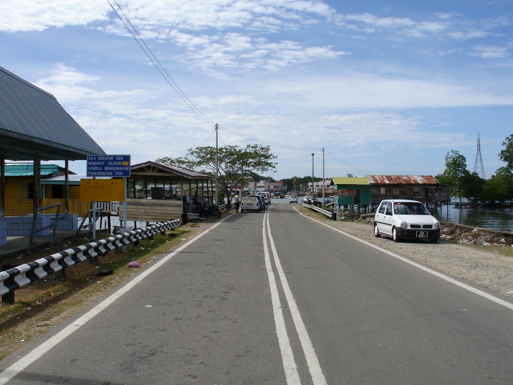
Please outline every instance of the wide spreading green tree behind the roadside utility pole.
[[231, 203], [229, 197], [233, 186], [249, 183], [252, 180], [249, 177], [251, 174], [276, 168], [276, 162], [273, 160], [277, 156], [272, 155], [269, 146], [248, 144], [245, 148], [240, 148], [230, 145], [220, 147], [218, 150], [215, 147], [205, 146], [190, 148], [188, 151], [185, 157], [164, 157], [157, 159], [156, 162], [215, 176], [217, 158], [218, 185], [228, 197], [228, 205]]

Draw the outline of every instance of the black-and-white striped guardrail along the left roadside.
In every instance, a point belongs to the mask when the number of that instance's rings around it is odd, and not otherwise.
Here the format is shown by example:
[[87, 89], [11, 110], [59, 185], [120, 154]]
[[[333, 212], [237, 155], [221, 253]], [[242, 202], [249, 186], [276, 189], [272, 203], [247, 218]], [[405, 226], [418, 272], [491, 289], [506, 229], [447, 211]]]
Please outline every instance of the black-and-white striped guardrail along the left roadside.
[[181, 219], [154, 224], [144, 228], [138, 228], [130, 232], [118, 234], [113, 237], [100, 239], [85, 245], [68, 248], [67, 250], [52, 254], [33, 262], [25, 263], [17, 267], [0, 272], [0, 295], [2, 302], [13, 303], [14, 291], [50, 274], [64, 270], [79, 262], [96, 258], [106, 254], [115, 248], [126, 246], [132, 242], [150, 238], [166, 230], [172, 230], [181, 225]]

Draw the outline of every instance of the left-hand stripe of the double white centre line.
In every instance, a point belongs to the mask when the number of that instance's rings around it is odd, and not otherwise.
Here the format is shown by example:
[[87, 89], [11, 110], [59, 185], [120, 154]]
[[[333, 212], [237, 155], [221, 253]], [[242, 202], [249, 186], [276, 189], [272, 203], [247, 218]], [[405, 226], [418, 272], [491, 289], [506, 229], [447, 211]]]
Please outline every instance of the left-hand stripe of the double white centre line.
[[278, 336], [278, 344], [280, 345], [280, 351], [282, 354], [283, 369], [285, 371], [285, 378], [289, 385], [301, 385], [301, 379], [299, 378], [298, 367], [294, 361], [294, 354], [292, 347], [290, 346], [290, 340], [288, 338], [287, 329], [285, 327], [285, 319], [283, 317], [283, 309], [280, 304], [280, 295], [278, 294], [278, 287], [274, 279], [274, 273], [272, 271], [271, 257], [269, 255], [269, 248], [267, 246], [267, 237], [265, 235], [265, 219], [267, 213], [264, 215], [264, 222], [262, 225], [262, 235], [264, 238], [264, 256], [265, 256], [265, 267], [267, 269], [267, 277], [269, 278], [269, 288], [271, 290], [271, 303], [272, 311], [274, 313], [274, 324], [276, 326], [276, 334]]

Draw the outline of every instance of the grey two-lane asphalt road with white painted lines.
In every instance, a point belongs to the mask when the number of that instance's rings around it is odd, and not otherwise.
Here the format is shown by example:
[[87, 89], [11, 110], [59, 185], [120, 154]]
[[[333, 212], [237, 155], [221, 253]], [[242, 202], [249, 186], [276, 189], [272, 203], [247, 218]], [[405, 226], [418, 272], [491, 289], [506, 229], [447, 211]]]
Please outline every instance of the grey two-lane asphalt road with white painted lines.
[[294, 208], [226, 217], [3, 360], [0, 384], [513, 383], [510, 303]]

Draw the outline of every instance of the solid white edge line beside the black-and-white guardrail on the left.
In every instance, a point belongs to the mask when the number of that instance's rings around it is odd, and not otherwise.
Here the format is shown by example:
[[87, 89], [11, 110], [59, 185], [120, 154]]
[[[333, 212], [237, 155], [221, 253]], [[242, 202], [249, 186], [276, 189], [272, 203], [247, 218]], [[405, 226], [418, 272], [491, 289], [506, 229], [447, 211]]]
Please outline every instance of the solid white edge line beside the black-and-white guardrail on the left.
[[[226, 217], [228, 218], [228, 217]], [[11, 378], [13, 378], [15, 375], [17, 375], [19, 372], [24, 370], [28, 367], [32, 362], [34, 362], [36, 359], [43, 356], [46, 352], [48, 352], [50, 349], [52, 349], [56, 344], [63, 341], [66, 337], [71, 335], [73, 332], [78, 330], [81, 326], [86, 324], [87, 321], [94, 318], [94, 316], [98, 315], [102, 310], [106, 309], [107, 306], [112, 304], [115, 300], [119, 299], [123, 294], [127, 293], [131, 288], [133, 288], [137, 283], [141, 282], [145, 277], [153, 273], [157, 268], [159, 268], [161, 265], [166, 263], [168, 260], [173, 258], [176, 254], [180, 253], [184, 248], [198, 240], [199, 238], [203, 237], [205, 234], [209, 232], [209, 230], [213, 229], [214, 227], [220, 225], [226, 218], [223, 218], [218, 223], [214, 224], [212, 227], [209, 227], [208, 229], [205, 228], [202, 233], [196, 235], [194, 238], [183, 244], [182, 246], [178, 247], [175, 251], [167, 254], [164, 258], [162, 258], [159, 262], [155, 263], [154, 265], [148, 267], [145, 271], [141, 272], [137, 277], [132, 279], [130, 282], [128, 282], [125, 286], [119, 288], [115, 293], [111, 294], [109, 297], [104, 299], [102, 302], [98, 303], [96, 306], [93, 307], [90, 311], [88, 311], [86, 314], [84, 314], [82, 317], [78, 318], [73, 323], [69, 324], [55, 334], [53, 337], [49, 338], [47, 341], [43, 342], [41, 345], [36, 347], [34, 350], [14, 362], [9, 368], [4, 370], [2, 373], [0, 373], [0, 385], [4, 385], [7, 381], [9, 381]]]

